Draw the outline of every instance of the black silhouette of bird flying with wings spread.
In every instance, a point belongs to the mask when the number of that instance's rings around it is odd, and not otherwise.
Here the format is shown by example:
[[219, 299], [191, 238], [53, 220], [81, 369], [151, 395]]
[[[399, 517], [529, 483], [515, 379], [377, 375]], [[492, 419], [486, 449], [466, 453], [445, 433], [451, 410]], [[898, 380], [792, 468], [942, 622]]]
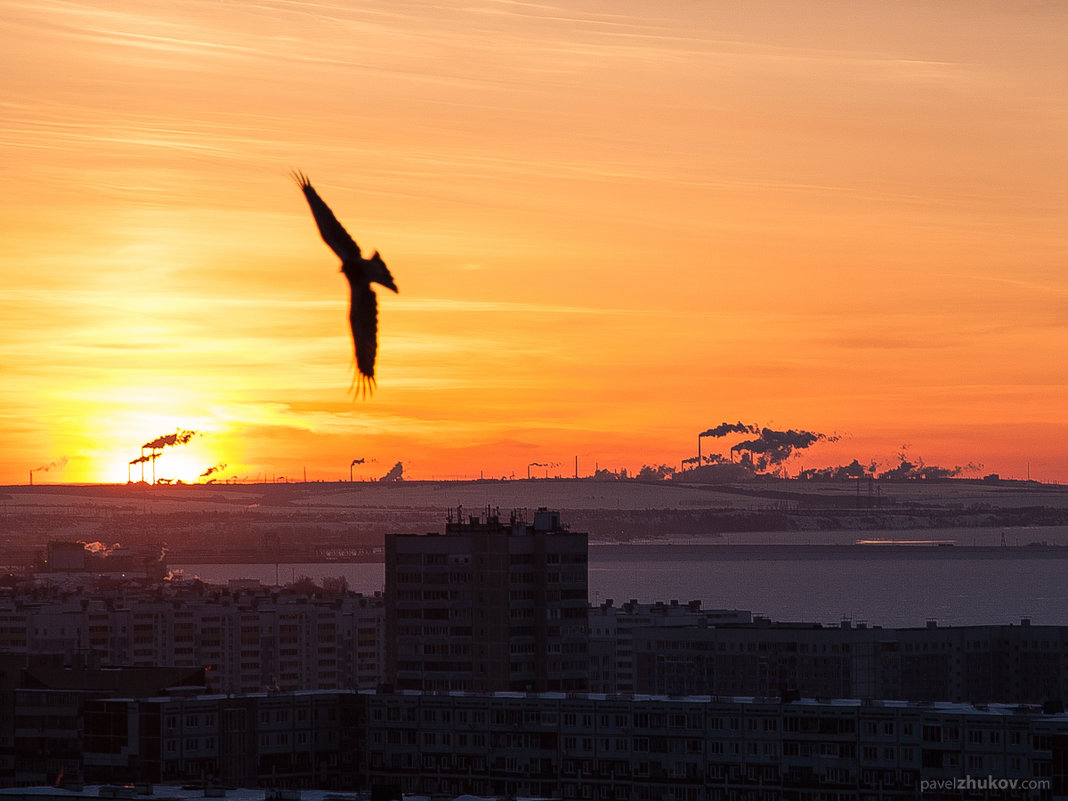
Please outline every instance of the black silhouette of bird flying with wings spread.
[[312, 188], [308, 176], [302, 172], [294, 172], [293, 178], [308, 199], [323, 241], [341, 258], [341, 271], [348, 279], [348, 323], [352, 329], [352, 347], [359, 373], [352, 379], [352, 384], [356, 386], [359, 381], [357, 393], [366, 395], [375, 388], [375, 355], [378, 352], [378, 298], [371, 284], [378, 283], [393, 292], [397, 290], [397, 285], [377, 250], [371, 258], [363, 257], [360, 246], [337, 222], [333, 211]]

